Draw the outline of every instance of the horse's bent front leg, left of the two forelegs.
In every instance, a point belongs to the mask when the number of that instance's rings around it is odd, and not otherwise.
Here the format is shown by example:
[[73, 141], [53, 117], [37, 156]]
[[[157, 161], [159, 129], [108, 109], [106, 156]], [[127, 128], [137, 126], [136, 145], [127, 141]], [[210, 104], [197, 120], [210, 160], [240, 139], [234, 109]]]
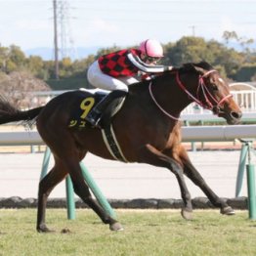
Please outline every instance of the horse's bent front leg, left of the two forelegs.
[[143, 162], [149, 163], [157, 167], [168, 168], [177, 178], [182, 199], [184, 201], [184, 208], [182, 209], [182, 216], [187, 219], [192, 219], [192, 198], [189, 192], [184, 175], [183, 168], [178, 161], [174, 160], [172, 157], [160, 152], [159, 150], [153, 148], [151, 145], [147, 145], [145, 149], [141, 151], [141, 160]]

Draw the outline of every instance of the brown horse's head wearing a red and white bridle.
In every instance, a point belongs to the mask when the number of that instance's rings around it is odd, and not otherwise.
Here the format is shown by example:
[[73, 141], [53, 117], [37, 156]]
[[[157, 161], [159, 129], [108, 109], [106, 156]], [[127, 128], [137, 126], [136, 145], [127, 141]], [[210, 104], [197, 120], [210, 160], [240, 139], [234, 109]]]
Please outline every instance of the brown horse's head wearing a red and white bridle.
[[185, 64], [184, 68], [198, 74], [198, 85], [193, 100], [214, 114], [223, 117], [229, 124], [240, 122], [241, 110], [235, 103], [229, 85], [210, 64]]

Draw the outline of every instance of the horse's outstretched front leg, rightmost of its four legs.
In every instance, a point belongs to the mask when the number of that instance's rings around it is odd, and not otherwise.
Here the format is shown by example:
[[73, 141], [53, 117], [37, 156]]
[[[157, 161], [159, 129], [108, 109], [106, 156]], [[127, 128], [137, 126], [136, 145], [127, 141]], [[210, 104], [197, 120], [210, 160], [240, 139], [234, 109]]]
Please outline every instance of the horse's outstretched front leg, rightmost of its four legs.
[[215, 192], [213, 192], [210, 187], [206, 184], [202, 176], [199, 174], [199, 172], [195, 169], [195, 167], [192, 165], [192, 162], [190, 160], [190, 157], [186, 151], [186, 149], [182, 149], [180, 152], [180, 157], [182, 159], [182, 162], [184, 164], [184, 173], [186, 176], [188, 176], [192, 182], [198, 186], [202, 192], [206, 194], [206, 196], [209, 198], [211, 203], [216, 206], [220, 207], [221, 213], [226, 215], [233, 215], [235, 214], [234, 209], [228, 205], [226, 200], [223, 198], [220, 198]]

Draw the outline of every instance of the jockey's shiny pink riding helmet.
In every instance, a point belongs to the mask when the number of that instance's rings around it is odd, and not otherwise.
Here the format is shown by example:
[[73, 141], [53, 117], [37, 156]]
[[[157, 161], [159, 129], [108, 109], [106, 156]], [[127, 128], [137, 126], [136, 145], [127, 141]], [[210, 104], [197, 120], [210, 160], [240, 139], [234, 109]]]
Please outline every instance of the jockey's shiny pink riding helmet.
[[149, 57], [163, 57], [163, 49], [161, 44], [154, 39], [147, 39], [140, 44], [139, 50]]

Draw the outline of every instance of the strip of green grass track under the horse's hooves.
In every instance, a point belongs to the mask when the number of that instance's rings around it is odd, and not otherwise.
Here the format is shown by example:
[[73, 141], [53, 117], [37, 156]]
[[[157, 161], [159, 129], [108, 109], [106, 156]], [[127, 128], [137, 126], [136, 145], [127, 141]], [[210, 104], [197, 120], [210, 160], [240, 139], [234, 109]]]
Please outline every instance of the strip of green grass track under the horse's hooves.
[[[190, 222], [174, 210], [117, 210], [125, 230], [113, 233], [87, 209], [68, 221], [64, 209], [49, 209], [53, 234], [35, 231], [35, 209], [0, 210], [0, 255], [256, 255], [256, 222], [246, 211], [233, 217], [194, 211]], [[62, 234], [66, 228], [70, 233]]]

